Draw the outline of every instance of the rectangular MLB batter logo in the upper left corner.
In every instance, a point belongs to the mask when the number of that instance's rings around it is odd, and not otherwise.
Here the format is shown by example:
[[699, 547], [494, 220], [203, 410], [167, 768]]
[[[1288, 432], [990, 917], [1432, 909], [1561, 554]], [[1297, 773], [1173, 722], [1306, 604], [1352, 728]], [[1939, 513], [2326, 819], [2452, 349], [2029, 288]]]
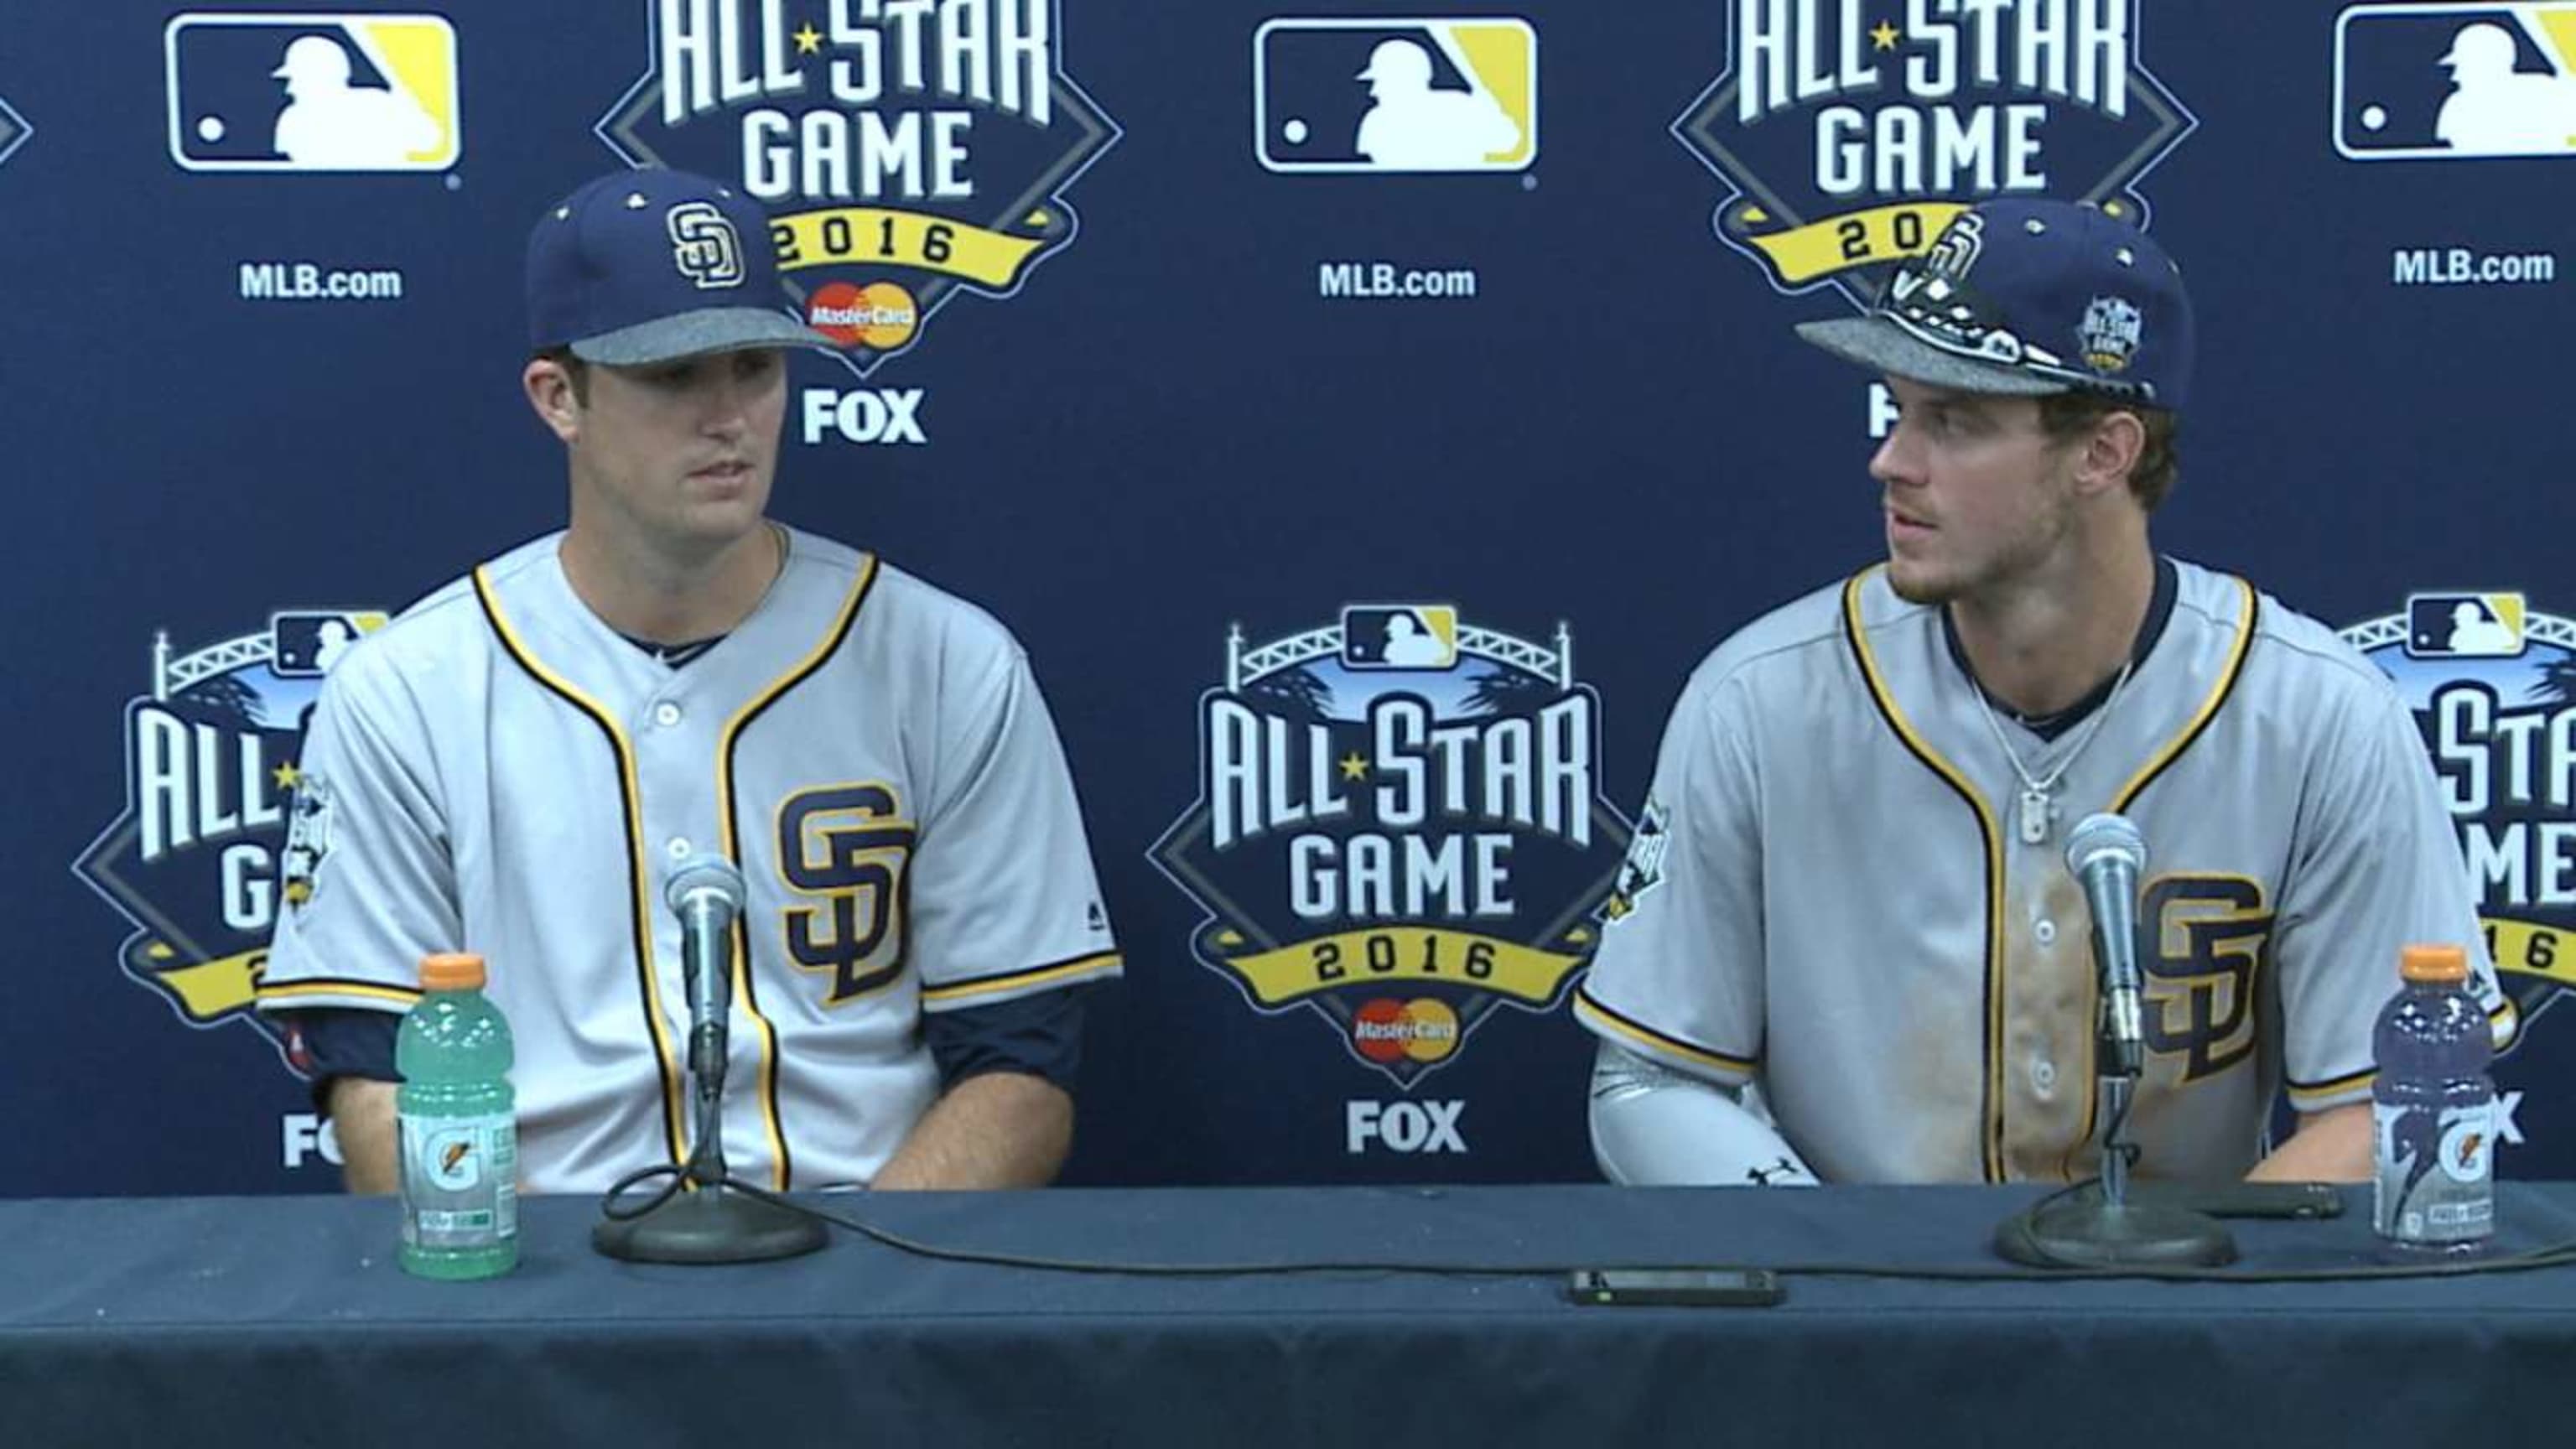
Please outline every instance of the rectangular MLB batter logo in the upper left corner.
[[448, 170], [464, 152], [446, 15], [191, 10], [162, 52], [185, 170]]

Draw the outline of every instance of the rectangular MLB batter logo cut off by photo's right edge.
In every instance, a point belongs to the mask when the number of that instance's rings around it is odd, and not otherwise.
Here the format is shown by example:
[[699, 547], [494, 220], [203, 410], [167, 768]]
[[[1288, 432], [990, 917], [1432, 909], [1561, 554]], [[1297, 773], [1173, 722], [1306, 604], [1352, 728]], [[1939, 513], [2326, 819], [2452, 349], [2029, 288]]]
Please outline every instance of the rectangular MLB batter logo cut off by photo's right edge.
[[2344, 160], [2576, 157], [2576, 5], [2347, 5]]

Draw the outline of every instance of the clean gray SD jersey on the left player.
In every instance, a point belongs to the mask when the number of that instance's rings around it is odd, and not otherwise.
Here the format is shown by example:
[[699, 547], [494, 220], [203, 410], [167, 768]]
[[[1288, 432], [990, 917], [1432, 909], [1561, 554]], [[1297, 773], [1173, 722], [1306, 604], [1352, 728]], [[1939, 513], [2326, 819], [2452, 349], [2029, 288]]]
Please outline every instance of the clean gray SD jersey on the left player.
[[747, 882], [726, 1160], [866, 1183], [940, 1088], [920, 1013], [1121, 969], [1028, 663], [984, 611], [788, 531], [760, 606], [670, 668], [582, 606], [559, 541], [332, 668], [260, 1006], [399, 1011], [425, 951], [482, 951], [526, 1186], [603, 1189], [688, 1155], [662, 884], [719, 851]]

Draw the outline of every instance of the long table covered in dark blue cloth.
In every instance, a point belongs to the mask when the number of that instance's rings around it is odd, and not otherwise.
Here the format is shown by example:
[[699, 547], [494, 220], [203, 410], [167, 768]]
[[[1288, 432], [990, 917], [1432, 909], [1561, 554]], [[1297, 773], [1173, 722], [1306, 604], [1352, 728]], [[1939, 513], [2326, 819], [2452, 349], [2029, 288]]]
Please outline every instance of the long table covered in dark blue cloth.
[[[951, 1248], [1162, 1263], [1999, 1266], [2032, 1189], [853, 1194]], [[2367, 1199], [2236, 1222], [2246, 1266], [2380, 1261]], [[389, 1201], [0, 1201], [8, 1444], [2481, 1444], [2566, 1441], [2576, 1269], [2439, 1281], [1793, 1276], [1780, 1307], [1574, 1307], [1558, 1276], [1149, 1279], [592, 1256], [523, 1204], [507, 1279], [389, 1253]], [[2509, 1248], [2576, 1183], [2504, 1183]]]

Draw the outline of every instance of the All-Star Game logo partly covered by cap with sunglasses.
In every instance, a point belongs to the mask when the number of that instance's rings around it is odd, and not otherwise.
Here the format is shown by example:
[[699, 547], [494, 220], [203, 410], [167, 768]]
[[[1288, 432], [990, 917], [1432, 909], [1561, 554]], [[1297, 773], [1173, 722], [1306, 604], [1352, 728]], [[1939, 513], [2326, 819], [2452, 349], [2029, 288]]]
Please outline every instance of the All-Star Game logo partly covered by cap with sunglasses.
[[1731, 196], [1726, 245], [1780, 291], [1868, 304], [1986, 196], [2094, 201], [2197, 121], [2146, 70], [2146, 0], [1728, 0], [1728, 62], [1672, 124]]

